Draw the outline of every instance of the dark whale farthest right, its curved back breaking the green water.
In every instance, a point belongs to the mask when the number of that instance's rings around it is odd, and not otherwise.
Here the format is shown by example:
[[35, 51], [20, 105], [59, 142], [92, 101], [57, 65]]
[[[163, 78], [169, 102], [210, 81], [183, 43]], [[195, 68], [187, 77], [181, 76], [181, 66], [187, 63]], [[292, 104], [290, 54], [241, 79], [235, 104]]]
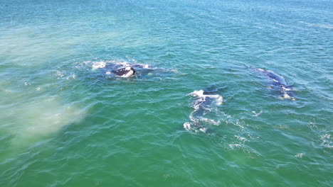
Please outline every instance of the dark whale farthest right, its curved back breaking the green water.
[[285, 81], [284, 77], [282, 77], [279, 74], [276, 74], [271, 70], [265, 70], [260, 68], [253, 70], [260, 72], [261, 74], [264, 74], [266, 77], [268, 77], [271, 80], [273, 86], [275, 86], [275, 88], [279, 90], [281, 93], [281, 95], [279, 96], [280, 99], [290, 99], [292, 101], [296, 100], [295, 97], [293, 97], [291, 86], [288, 86], [287, 81]]

